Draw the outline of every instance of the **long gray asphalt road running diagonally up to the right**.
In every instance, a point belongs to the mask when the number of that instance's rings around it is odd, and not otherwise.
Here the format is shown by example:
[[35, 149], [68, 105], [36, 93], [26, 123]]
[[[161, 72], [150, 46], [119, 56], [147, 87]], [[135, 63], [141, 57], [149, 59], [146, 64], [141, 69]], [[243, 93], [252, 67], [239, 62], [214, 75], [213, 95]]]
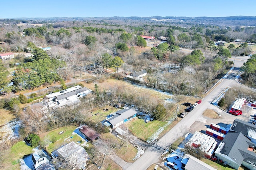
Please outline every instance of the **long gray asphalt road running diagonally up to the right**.
[[240, 84], [236, 82], [235, 77], [240, 72], [239, 68], [242, 66], [244, 62], [247, 61], [249, 57], [232, 57], [230, 60], [234, 59], [235, 68], [232, 70], [230, 75], [221, 80], [220, 83], [216, 85], [216, 87], [209, 92], [209, 94], [202, 100], [202, 103], [198, 105], [191, 113], [189, 113], [186, 117], [184, 117], [176, 126], [174, 126], [168, 133], [166, 133], [161, 139], [158, 140], [154, 145], [150, 145], [148, 149], [146, 149], [145, 153], [138, 158], [131, 165], [127, 164], [128, 167], [123, 166], [122, 168], [125, 170], [146, 170], [151, 164], [158, 162], [161, 158], [161, 154], [170, 147], [178, 137], [181, 137], [188, 133], [191, 125], [198, 120], [198, 118], [202, 115], [204, 110], [206, 109], [214, 109], [218, 113], [226, 114], [226, 112], [222, 111], [218, 107], [215, 107], [211, 104], [211, 102], [216, 98], [222, 90], [226, 87], [230, 86], [239, 86]]

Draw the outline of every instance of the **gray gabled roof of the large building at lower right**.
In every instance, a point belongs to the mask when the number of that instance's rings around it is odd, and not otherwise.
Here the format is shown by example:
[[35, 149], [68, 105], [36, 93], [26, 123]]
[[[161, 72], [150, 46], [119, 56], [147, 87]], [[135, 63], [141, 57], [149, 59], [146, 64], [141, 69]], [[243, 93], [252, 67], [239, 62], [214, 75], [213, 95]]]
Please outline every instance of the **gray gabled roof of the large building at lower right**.
[[238, 165], [248, 160], [256, 162], [256, 153], [248, 150], [248, 147], [254, 147], [254, 144], [242, 132], [229, 131], [222, 142], [224, 146], [220, 153], [227, 155]]

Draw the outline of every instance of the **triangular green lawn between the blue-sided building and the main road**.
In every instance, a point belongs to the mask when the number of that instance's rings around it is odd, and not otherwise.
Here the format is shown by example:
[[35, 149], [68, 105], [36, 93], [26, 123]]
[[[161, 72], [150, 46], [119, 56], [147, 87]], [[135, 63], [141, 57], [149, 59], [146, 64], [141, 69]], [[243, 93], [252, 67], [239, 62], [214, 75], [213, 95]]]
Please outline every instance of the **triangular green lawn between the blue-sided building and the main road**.
[[130, 127], [129, 130], [136, 137], [142, 139], [143, 141], [147, 141], [148, 138], [151, 137], [159, 129], [159, 127], [165, 125], [166, 122], [155, 120], [145, 123], [142, 119], [135, 119], [126, 124], [128, 127]]

